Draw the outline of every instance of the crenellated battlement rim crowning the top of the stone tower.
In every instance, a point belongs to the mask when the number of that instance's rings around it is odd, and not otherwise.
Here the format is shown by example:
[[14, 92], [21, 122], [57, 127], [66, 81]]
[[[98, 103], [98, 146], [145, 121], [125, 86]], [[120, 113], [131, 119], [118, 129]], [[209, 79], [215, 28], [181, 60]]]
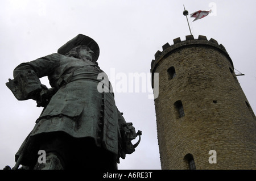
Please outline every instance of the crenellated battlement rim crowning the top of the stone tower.
[[180, 37], [177, 37], [173, 41], [174, 41], [174, 44], [170, 45], [169, 43], [166, 43], [162, 46], [163, 48], [162, 52], [158, 50], [155, 53], [155, 60], [152, 60], [151, 62], [151, 71], [155, 69], [156, 64], [158, 64], [163, 59], [163, 57], [167, 56], [167, 54], [170, 54], [174, 50], [177, 50], [180, 48], [192, 47], [192, 46], [210, 46], [212, 48], [215, 48], [220, 52], [224, 53], [233, 66], [233, 62], [229, 57], [228, 52], [226, 52], [225, 47], [222, 44], [218, 44], [217, 40], [214, 40], [212, 38], [210, 40], [207, 40], [207, 37], [203, 35], [199, 35], [198, 39], [194, 39], [193, 35], [187, 35], [185, 36], [184, 41], [181, 41]]

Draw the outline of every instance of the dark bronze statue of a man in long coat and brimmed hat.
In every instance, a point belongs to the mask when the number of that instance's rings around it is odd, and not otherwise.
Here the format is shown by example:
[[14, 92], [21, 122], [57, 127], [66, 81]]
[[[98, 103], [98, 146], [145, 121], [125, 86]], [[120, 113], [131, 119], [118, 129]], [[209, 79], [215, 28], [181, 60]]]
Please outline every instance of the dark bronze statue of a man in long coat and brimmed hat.
[[[126, 123], [113, 92], [98, 90], [99, 53], [96, 41], [80, 34], [57, 53], [14, 69], [7, 87], [18, 100], [44, 107], [15, 155], [14, 169], [117, 169], [119, 157], [133, 153], [131, 140], [141, 132]], [[40, 83], [44, 76], [51, 89]], [[39, 150], [46, 151], [46, 163], [38, 162]]]

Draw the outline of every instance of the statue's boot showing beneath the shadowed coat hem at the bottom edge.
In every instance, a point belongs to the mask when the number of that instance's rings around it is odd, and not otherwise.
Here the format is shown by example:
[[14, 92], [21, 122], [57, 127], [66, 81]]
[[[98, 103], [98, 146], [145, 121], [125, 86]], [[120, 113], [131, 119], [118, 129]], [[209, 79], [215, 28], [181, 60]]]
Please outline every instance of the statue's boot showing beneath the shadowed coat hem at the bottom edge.
[[55, 153], [46, 154], [46, 163], [37, 162], [34, 170], [63, 170], [61, 159]]

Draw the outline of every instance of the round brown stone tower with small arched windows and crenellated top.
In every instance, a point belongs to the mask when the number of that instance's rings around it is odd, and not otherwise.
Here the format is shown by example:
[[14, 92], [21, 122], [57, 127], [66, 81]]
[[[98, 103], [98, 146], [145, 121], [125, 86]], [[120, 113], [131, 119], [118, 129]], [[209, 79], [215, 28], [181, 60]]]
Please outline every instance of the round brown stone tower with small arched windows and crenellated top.
[[256, 118], [223, 45], [174, 39], [151, 73], [162, 169], [256, 169]]

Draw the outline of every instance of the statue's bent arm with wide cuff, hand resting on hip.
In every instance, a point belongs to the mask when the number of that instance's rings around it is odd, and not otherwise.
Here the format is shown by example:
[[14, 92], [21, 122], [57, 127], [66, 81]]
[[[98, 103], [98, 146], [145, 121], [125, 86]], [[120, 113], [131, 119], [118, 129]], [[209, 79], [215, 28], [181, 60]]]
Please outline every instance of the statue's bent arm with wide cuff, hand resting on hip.
[[59, 65], [59, 61], [59, 54], [55, 53], [34, 61], [24, 62], [14, 69], [14, 79], [9, 79], [6, 85], [18, 100], [38, 100], [40, 92], [48, 90], [42, 85], [40, 78], [51, 74]]

